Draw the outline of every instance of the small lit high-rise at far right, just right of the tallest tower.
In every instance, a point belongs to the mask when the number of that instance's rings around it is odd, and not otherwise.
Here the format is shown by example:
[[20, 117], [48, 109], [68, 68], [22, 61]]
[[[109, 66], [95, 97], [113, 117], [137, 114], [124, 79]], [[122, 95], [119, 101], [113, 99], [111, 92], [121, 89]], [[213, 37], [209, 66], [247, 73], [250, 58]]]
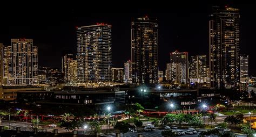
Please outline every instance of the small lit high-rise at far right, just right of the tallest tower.
[[240, 77], [248, 77], [248, 55], [240, 56]]

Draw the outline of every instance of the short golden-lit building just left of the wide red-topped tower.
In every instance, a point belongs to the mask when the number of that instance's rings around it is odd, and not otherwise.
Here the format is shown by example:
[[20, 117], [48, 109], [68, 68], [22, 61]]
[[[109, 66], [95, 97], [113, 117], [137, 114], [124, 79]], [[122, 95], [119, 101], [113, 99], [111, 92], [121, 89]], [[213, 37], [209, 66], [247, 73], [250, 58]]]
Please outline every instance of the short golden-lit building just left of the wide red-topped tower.
[[68, 62], [68, 83], [69, 84], [77, 84], [77, 61], [70, 60]]

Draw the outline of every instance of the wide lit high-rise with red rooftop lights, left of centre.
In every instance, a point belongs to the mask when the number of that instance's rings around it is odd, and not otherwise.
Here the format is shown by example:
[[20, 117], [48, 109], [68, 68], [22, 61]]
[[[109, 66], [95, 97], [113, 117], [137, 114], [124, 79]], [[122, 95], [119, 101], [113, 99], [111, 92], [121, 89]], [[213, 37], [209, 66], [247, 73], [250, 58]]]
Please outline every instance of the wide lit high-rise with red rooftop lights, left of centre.
[[79, 83], [111, 82], [111, 25], [77, 27]]

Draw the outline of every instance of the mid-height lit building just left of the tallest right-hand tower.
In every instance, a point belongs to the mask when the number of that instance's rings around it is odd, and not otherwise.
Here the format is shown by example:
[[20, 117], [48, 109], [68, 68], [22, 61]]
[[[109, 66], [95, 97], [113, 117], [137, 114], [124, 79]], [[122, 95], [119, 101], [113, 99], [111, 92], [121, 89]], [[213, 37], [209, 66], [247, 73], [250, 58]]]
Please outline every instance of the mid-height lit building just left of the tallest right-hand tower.
[[204, 83], [207, 79], [206, 55], [190, 57], [190, 82]]

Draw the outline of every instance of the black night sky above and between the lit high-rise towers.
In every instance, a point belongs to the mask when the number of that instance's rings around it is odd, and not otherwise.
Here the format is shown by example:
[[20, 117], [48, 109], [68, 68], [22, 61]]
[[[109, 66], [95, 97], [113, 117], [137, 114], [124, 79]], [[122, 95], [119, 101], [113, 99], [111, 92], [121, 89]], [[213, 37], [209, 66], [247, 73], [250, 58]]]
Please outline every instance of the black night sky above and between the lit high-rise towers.
[[[167, 4], [111, 9], [76, 6], [14, 8], [1, 10], [0, 42], [11, 38], [32, 38], [38, 46], [39, 66], [58, 67], [63, 51], [76, 53], [76, 26], [107, 23], [112, 25], [113, 67], [123, 67], [131, 55], [131, 20], [149, 16], [159, 21], [159, 69], [166, 69], [170, 52], [178, 49], [192, 55], [208, 55], [208, 15], [213, 4]], [[214, 4], [216, 5], [216, 4]], [[218, 4], [219, 5], [219, 4]], [[240, 9], [241, 52], [250, 56], [249, 71], [256, 76], [255, 1], [247, 4], [221, 3]], [[129, 7], [129, 6], [128, 6]]]

